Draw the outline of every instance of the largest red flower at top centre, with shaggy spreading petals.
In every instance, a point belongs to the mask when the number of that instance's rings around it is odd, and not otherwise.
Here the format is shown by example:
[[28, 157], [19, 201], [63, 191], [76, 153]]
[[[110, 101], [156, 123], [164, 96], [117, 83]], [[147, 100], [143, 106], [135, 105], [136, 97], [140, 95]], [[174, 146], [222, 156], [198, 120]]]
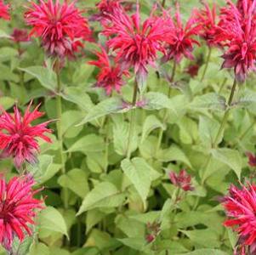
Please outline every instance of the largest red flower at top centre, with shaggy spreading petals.
[[111, 15], [111, 24], [103, 34], [112, 37], [107, 45], [117, 54], [116, 60], [124, 66], [134, 67], [137, 82], [145, 82], [147, 66], [155, 66], [157, 53], [164, 53], [163, 42], [171, 32], [167, 20], [151, 16], [140, 24], [139, 4], [131, 17], [125, 12]]

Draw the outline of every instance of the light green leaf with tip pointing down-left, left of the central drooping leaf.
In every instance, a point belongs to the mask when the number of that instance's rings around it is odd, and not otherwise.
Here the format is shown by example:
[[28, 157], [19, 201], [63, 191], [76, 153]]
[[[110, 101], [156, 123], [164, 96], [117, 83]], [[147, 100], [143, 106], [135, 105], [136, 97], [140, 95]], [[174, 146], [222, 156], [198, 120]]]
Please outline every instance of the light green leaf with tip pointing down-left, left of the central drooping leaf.
[[77, 215], [88, 210], [100, 207], [118, 207], [122, 204], [124, 195], [117, 190], [114, 184], [102, 182], [95, 186], [82, 201], [82, 206]]

